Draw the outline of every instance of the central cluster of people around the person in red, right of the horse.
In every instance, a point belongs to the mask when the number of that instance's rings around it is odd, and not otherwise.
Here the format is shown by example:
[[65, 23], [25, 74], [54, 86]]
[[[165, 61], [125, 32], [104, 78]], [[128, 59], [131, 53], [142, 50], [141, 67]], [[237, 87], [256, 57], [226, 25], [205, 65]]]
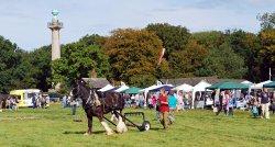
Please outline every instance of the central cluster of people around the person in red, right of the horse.
[[150, 92], [145, 98], [143, 93], [124, 94], [125, 106], [155, 110], [155, 120], [161, 121], [164, 128], [175, 121], [175, 111], [185, 111], [191, 106], [191, 92], [165, 89]]

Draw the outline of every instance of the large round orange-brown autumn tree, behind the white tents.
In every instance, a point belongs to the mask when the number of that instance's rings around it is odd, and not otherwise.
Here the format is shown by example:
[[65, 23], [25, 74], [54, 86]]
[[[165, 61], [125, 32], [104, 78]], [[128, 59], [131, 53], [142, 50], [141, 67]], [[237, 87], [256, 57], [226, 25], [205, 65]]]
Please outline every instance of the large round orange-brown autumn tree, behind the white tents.
[[[105, 44], [109, 56], [111, 77], [140, 87], [155, 80], [156, 64], [162, 41], [145, 30], [116, 30]], [[147, 78], [144, 78], [147, 77]]]

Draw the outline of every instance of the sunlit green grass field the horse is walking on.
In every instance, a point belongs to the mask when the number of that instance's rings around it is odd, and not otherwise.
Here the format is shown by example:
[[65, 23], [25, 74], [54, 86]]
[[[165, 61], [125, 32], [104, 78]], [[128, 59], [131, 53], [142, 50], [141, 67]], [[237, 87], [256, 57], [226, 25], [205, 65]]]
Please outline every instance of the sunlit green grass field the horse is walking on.
[[[146, 113], [152, 129], [139, 132], [130, 127], [128, 133], [112, 136], [105, 134], [97, 118], [94, 118], [94, 135], [84, 136], [87, 122], [81, 108], [77, 114], [82, 122], [74, 122], [70, 109], [62, 109], [59, 104], [45, 110], [4, 111], [0, 113], [0, 146], [275, 146], [275, 115], [261, 120], [242, 111], [235, 112], [234, 117], [215, 116], [206, 110], [187, 111], [176, 113], [175, 124], [163, 131], [154, 120], [154, 111], [139, 111]], [[139, 117], [132, 118], [141, 122]]]

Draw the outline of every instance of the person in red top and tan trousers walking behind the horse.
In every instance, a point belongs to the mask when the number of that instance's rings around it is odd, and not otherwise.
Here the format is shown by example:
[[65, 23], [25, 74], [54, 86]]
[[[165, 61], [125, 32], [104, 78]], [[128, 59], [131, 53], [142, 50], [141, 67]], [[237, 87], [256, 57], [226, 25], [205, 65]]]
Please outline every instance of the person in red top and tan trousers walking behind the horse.
[[167, 128], [169, 106], [168, 106], [168, 98], [167, 98], [167, 94], [165, 93], [165, 89], [161, 89], [158, 103], [160, 103], [160, 112], [161, 112], [161, 123], [164, 128]]

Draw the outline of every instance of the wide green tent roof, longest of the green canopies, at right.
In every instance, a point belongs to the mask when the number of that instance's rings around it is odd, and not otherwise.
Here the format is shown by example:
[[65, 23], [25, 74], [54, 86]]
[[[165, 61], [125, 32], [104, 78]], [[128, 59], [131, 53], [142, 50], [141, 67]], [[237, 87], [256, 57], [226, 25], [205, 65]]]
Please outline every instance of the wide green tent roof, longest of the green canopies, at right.
[[223, 82], [218, 82], [215, 83], [207, 89], [215, 90], [215, 89], [249, 89], [249, 86], [239, 83], [239, 82], [233, 82], [233, 81], [223, 81]]

